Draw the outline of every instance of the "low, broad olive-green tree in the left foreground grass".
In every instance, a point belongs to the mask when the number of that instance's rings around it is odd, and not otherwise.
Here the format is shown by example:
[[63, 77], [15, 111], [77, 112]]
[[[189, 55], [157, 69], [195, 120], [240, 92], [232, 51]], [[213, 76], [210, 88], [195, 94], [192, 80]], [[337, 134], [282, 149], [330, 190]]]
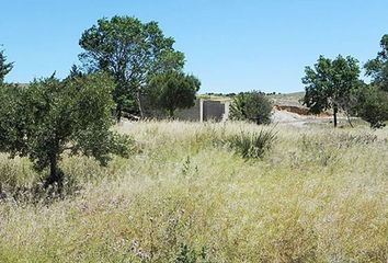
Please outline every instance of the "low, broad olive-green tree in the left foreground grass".
[[59, 190], [61, 155], [83, 153], [105, 165], [111, 153], [128, 155], [128, 138], [110, 128], [114, 83], [103, 73], [59, 81], [54, 76], [20, 88], [0, 90], [0, 151], [27, 157], [42, 172], [45, 186]]

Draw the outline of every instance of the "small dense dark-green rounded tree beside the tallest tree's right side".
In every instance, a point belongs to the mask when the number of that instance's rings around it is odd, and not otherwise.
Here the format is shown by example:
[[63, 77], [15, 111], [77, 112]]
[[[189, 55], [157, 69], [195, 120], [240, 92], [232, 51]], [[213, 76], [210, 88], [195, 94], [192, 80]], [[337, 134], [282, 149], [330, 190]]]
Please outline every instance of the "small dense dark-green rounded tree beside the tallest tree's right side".
[[201, 82], [194, 76], [169, 71], [158, 75], [149, 83], [149, 98], [158, 108], [166, 110], [170, 117], [176, 108], [194, 106]]

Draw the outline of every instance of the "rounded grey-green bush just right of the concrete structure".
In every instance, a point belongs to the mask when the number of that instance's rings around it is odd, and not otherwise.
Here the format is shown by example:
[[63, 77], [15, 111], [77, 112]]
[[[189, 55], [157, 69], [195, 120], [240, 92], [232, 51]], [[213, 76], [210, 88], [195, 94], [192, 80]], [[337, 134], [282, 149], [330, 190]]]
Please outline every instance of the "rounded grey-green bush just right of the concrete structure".
[[272, 103], [259, 91], [241, 92], [233, 98], [230, 105], [230, 118], [250, 121], [258, 125], [270, 124]]

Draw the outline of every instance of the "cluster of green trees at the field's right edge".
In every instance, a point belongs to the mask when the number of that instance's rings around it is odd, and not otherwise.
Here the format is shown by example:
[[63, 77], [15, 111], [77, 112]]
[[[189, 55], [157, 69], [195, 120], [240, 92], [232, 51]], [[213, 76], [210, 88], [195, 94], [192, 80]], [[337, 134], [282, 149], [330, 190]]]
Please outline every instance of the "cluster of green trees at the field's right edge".
[[370, 83], [361, 79], [357, 59], [339, 55], [334, 59], [320, 56], [313, 67], [306, 67], [303, 83], [306, 94], [303, 103], [311, 113], [331, 110], [334, 127], [338, 113], [358, 116], [373, 128], [385, 126], [388, 121], [388, 34], [380, 41], [377, 57], [364, 65]]

